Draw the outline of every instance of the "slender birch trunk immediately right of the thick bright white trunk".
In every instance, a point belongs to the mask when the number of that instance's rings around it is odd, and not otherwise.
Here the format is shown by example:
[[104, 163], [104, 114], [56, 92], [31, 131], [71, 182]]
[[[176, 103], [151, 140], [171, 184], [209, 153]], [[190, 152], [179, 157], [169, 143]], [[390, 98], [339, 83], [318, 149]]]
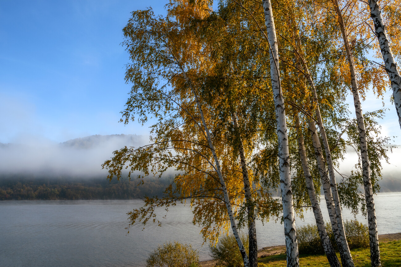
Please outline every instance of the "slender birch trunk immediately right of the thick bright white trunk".
[[324, 225], [324, 219], [322, 211], [320, 210], [320, 205], [316, 197], [315, 187], [312, 180], [312, 175], [309, 171], [308, 157], [306, 156], [305, 145], [304, 145], [304, 135], [302, 134], [302, 128], [300, 124], [300, 119], [298, 113], [295, 113], [295, 125], [298, 131], [298, 151], [300, 154], [302, 170], [304, 171], [306, 188], [308, 189], [308, 195], [310, 203], [312, 204], [312, 210], [315, 215], [316, 226], [318, 227], [318, 233], [320, 240], [322, 241], [324, 252], [326, 253], [327, 260], [330, 267], [340, 267], [340, 262], [338, 261], [336, 252], [334, 251], [330, 239], [326, 232], [326, 227]]

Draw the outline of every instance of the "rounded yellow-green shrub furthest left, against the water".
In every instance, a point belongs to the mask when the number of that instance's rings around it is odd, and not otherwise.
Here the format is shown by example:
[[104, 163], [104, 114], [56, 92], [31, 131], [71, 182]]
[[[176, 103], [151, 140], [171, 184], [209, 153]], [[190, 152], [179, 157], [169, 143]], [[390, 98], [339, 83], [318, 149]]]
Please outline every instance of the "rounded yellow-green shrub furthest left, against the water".
[[191, 245], [169, 242], [149, 254], [146, 267], [197, 267], [198, 252]]

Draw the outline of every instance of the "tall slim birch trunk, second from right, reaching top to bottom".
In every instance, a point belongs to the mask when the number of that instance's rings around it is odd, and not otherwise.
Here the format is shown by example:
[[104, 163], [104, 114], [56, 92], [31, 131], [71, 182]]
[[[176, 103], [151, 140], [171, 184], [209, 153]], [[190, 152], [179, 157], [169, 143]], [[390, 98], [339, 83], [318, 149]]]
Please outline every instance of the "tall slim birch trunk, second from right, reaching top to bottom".
[[358, 90], [358, 84], [356, 82], [354, 58], [351, 54], [351, 49], [348, 42], [348, 36], [345, 31], [344, 20], [342, 18], [341, 10], [338, 6], [337, 0], [333, 1], [334, 1], [334, 8], [336, 9], [336, 13], [338, 16], [338, 24], [340, 25], [340, 29], [342, 32], [342, 38], [344, 39], [344, 46], [347, 53], [348, 63], [350, 66], [351, 88], [352, 88], [352, 95], [354, 96], [356, 121], [358, 122], [358, 130], [360, 138], [360, 156], [362, 158], [363, 185], [365, 188], [366, 210], [368, 213], [371, 263], [372, 267], [377, 267], [381, 266], [380, 249], [379, 249], [379, 238], [377, 236], [375, 202], [373, 201], [373, 190], [372, 190], [371, 174], [369, 167], [369, 155], [368, 155], [368, 145], [365, 131], [365, 122], [363, 118], [362, 107], [359, 100], [359, 90]]

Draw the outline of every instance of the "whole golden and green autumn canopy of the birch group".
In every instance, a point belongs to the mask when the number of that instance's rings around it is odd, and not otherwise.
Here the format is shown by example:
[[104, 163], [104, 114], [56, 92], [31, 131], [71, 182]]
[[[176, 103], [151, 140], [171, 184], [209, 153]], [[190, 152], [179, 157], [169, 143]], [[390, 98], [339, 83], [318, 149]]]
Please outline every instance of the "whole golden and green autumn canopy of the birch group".
[[[389, 139], [379, 137], [376, 120], [384, 110], [363, 117], [355, 104], [355, 119], [345, 99], [350, 91], [354, 98], [370, 92], [382, 97], [390, 84], [395, 88], [392, 76], [386, 78], [389, 68], [376, 62], [384, 48], [369, 5], [225, 0], [212, 10], [212, 4], [170, 0], [166, 16], [156, 16], [152, 8], [133, 11], [123, 29], [122, 45], [131, 60], [126, 82], [132, 88], [121, 120], [155, 123], [150, 145], [115, 151], [103, 167], [110, 180], [122, 177], [124, 169], [129, 178], [140, 171], [140, 181], [169, 169], [178, 173], [163, 197], [146, 198], [144, 207], [129, 213], [131, 223], [157, 221], [156, 207], [188, 200], [205, 241], [215, 242], [231, 228], [245, 266], [255, 266], [254, 249], [248, 257], [238, 229], [253, 227], [256, 217], [284, 212], [288, 265], [298, 266], [294, 209], [301, 216], [311, 205], [317, 209], [310, 187], [319, 192], [323, 186], [343, 247], [342, 265], [353, 266], [340, 203], [354, 212], [367, 205], [369, 213], [369, 197], [364, 199], [359, 185], [368, 194], [369, 178], [371, 191], [378, 190]], [[379, 4], [398, 58], [399, 6]], [[360, 151], [360, 161], [338, 181], [336, 167], [349, 146]], [[281, 201], [272, 197], [278, 188]], [[249, 248], [252, 244], [256, 237], [249, 231]]]

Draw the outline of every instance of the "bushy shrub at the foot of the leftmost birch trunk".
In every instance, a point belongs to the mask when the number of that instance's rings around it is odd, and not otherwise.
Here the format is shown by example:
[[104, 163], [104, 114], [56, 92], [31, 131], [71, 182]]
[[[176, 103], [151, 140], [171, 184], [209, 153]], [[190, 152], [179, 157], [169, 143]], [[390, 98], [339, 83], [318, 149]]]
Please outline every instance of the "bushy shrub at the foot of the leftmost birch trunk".
[[[241, 235], [241, 240], [248, 253], [249, 239], [245, 235]], [[211, 257], [217, 260], [217, 264], [227, 267], [241, 267], [244, 262], [239, 252], [237, 240], [234, 235], [226, 235], [219, 239], [215, 246], [210, 246]]]

